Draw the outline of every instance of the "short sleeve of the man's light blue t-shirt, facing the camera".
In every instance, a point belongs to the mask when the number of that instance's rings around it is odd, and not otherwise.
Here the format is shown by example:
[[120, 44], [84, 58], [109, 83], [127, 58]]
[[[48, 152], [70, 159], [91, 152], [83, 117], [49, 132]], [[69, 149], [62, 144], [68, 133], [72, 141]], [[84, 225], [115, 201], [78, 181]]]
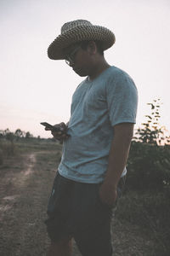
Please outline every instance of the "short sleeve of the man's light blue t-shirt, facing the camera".
[[106, 84], [106, 98], [111, 125], [136, 123], [137, 88], [127, 73], [116, 73]]

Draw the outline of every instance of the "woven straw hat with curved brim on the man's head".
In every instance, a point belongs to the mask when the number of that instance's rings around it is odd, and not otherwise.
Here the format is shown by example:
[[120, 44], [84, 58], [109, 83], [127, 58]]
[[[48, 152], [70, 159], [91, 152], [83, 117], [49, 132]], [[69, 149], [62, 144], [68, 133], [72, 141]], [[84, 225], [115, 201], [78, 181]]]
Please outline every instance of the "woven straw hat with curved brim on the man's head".
[[94, 26], [88, 20], [73, 20], [61, 27], [61, 34], [48, 47], [48, 57], [52, 60], [63, 60], [63, 49], [85, 40], [101, 41], [105, 50], [115, 43], [115, 35], [106, 27]]

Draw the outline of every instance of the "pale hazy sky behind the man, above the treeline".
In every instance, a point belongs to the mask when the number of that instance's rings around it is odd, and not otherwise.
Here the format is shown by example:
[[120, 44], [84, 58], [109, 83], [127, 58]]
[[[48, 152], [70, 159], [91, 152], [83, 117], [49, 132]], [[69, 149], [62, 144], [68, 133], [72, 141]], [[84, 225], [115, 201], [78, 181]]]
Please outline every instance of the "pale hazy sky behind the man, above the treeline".
[[169, 0], [0, 0], [0, 130], [52, 137], [40, 122], [67, 122], [71, 96], [82, 78], [65, 61], [48, 59], [48, 45], [67, 21], [106, 26], [116, 44], [105, 51], [139, 90], [136, 128], [161, 98], [161, 125], [170, 131]]

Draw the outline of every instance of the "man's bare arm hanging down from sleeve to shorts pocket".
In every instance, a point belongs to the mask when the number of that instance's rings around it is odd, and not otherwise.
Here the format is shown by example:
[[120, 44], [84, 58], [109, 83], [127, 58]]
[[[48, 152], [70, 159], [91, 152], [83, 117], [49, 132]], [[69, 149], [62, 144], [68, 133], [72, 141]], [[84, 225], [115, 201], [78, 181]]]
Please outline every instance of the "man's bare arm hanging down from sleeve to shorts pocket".
[[109, 164], [104, 183], [101, 185], [99, 195], [108, 205], [116, 201], [116, 188], [122, 172], [127, 164], [127, 157], [133, 137], [133, 124], [122, 123], [115, 125], [114, 138], [111, 143]]

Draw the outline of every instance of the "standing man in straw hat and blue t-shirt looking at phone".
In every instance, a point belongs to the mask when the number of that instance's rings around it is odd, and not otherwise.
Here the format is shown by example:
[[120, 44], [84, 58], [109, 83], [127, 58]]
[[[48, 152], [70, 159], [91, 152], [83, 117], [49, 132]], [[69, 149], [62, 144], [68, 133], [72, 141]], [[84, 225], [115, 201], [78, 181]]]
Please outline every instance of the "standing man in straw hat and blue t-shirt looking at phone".
[[127, 172], [138, 101], [133, 79], [105, 61], [104, 50], [114, 43], [109, 29], [74, 20], [48, 47], [50, 59], [87, 77], [72, 96], [69, 123], [52, 131], [64, 144], [48, 202], [48, 256], [70, 256], [72, 238], [83, 256], [112, 254], [111, 214]]

